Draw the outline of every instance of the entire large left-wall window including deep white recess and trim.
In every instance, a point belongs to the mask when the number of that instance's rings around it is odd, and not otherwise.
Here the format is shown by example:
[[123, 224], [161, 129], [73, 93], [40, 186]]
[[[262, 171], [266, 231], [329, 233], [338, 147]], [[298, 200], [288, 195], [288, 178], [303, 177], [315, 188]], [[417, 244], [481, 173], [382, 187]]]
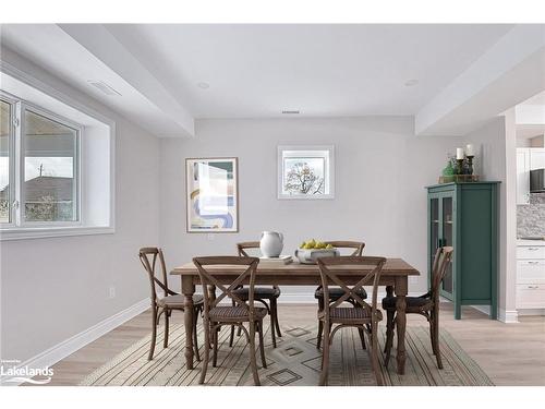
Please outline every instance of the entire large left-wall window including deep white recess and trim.
[[116, 122], [0, 67], [0, 241], [113, 233]]

